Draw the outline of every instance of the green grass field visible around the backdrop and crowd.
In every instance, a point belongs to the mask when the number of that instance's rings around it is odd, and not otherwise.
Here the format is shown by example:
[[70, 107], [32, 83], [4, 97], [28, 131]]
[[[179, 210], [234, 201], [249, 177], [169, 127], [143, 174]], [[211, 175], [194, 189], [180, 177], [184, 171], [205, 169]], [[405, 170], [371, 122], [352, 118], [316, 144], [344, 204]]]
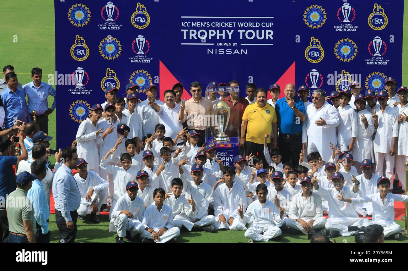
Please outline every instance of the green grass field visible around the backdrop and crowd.
[[[23, 85], [31, 81], [31, 68], [41, 67], [43, 81], [47, 82], [48, 74], [55, 73], [55, 30], [54, 30], [54, 1], [53, 0], [19, 0], [16, 4], [2, 4], [0, 25], [2, 25], [2, 54], [0, 66], [13, 65], [18, 74], [18, 80]], [[405, 2], [404, 18], [408, 18], [408, 2]], [[16, 41], [17, 38], [17, 42]], [[397, 37], [396, 37], [397, 38]], [[408, 84], [408, 25], [404, 20], [402, 85]], [[54, 86], [55, 87], [55, 86]], [[58, 88], [56, 88], [58, 93]], [[53, 97], [49, 97], [51, 105]], [[56, 109], [58, 110], [58, 108]], [[49, 116], [49, 134], [54, 137], [51, 148], [56, 147], [55, 112]], [[50, 159], [53, 163], [55, 159]], [[78, 220], [78, 234], [76, 241], [83, 243], [115, 242], [116, 233], [109, 233], [107, 216], [100, 216], [102, 221], [95, 225], [85, 220]], [[404, 228], [404, 221], [396, 221]], [[58, 242], [58, 228], [55, 215], [50, 217], [51, 242]], [[304, 235], [292, 235], [284, 232], [280, 243], [308, 242]], [[337, 243], [354, 242], [354, 237], [337, 237]], [[202, 233], [182, 231], [177, 242], [195, 243], [237, 243], [248, 242], [244, 231], [219, 231], [217, 233]], [[271, 241], [273, 243], [274, 241]], [[397, 242], [386, 240], [386, 242]], [[407, 242], [402, 237], [400, 242]]]

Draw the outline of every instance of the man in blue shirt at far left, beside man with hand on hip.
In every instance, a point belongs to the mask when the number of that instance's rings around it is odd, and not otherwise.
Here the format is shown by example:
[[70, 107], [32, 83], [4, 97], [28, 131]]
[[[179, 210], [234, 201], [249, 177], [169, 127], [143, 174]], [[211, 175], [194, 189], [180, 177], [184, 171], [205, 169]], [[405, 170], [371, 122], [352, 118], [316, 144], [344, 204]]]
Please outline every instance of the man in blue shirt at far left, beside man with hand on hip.
[[8, 87], [2, 92], [1, 100], [5, 111], [4, 128], [14, 126], [16, 120], [28, 123], [31, 121], [25, 101], [24, 91], [17, 88], [17, 74], [9, 72], [6, 74]]

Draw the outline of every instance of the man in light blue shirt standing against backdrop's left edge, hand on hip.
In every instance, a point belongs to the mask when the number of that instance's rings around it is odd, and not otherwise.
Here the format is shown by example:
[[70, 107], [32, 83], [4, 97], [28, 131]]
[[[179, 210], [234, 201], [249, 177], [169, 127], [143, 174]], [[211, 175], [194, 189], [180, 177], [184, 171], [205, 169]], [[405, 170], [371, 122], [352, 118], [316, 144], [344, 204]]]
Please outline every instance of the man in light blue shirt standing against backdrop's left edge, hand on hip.
[[[51, 114], [56, 105], [55, 89], [41, 81], [42, 69], [31, 69], [31, 81], [23, 85], [24, 95], [28, 97], [28, 112], [33, 117], [33, 111], [35, 111], [36, 122], [40, 126], [40, 131], [48, 134], [48, 115]], [[54, 97], [54, 101], [51, 108], [48, 108], [48, 96]]]

